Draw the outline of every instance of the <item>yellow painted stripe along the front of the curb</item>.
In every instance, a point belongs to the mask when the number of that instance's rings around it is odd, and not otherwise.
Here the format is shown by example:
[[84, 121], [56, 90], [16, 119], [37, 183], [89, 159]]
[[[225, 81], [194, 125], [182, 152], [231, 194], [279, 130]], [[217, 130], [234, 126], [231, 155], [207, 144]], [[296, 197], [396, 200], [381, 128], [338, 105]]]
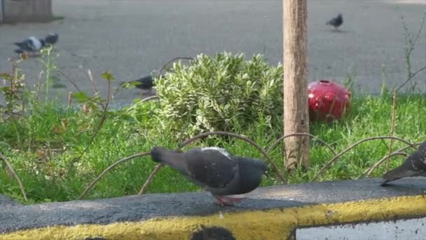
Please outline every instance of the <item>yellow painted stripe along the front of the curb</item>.
[[236, 239], [288, 239], [295, 227], [426, 215], [425, 196], [318, 204], [266, 211], [157, 218], [109, 225], [43, 227], [0, 235], [0, 239], [191, 239], [204, 227], [224, 227]]

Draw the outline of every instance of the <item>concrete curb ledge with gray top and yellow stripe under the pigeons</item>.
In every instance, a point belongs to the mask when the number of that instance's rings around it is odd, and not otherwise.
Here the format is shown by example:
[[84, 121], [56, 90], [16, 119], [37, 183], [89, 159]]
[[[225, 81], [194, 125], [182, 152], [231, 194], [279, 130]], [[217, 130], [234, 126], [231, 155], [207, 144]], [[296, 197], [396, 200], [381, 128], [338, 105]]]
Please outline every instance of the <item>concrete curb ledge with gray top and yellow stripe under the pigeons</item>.
[[298, 239], [296, 229], [305, 227], [425, 217], [424, 183], [411, 178], [380, 187], [380, 180], [369, 179], [263, 187], [224, 208], [206, 192], [30, 206], [0, 199], [0, 239]]

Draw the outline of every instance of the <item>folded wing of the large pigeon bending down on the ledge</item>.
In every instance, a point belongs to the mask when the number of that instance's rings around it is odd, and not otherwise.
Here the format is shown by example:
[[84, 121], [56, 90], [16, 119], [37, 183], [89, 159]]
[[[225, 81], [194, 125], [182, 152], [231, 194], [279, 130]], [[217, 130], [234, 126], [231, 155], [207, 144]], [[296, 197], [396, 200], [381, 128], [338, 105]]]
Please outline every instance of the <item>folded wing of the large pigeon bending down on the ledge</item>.
[[237, 162], [225, 149], [191, 149], [184, 156], [188, 177], [203, 187], [224, 188], [238, 174]]

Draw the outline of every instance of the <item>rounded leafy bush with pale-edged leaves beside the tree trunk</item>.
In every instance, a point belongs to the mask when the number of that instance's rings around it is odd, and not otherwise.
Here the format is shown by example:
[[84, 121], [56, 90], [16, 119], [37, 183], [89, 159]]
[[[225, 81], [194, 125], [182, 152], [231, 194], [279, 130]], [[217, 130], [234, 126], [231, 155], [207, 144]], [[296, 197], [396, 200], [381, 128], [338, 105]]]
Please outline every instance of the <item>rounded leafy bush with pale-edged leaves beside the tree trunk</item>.
[[201, 54], [155, 81], [159, 115], [182, 135], [244, 130], [259, 119], [271, 126], [282, 114], [282, 65], [270, 67], [262, 55]]

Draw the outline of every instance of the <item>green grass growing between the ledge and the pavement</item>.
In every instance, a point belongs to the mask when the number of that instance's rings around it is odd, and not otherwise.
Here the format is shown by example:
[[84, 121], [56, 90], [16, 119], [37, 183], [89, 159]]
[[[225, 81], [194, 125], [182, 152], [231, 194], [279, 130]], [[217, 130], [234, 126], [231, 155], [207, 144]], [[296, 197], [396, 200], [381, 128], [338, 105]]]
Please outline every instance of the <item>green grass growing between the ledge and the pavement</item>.
[[[156, 117], [157, 104], [144, 102], [121, 109], [115, 114], [130, 114], [135, 121], [109, 117], [95, 140], [82, 158], [74, 165], [71, 161], [83, 152], [99, 124], [97, 113], [84, 113], [80, 109], [64, 109], [48, 103], [34, 105], [23, 117], [0, 119], [0, 151], [8, 157], [20, 176], [30, 203], [44, 201], [67, 201], [77, 199], [90, 181], [114, 161], [138, 152], [146, 152], [155, 145], [177, 147], [175, 135], [167, 132], [167, 126]], [[352, 100], [350, 114], [332, 124], [312, 123], [311, 133], [325, 140], [336, 152], [363, 138], [389, 135], [392, 112], [390, 95], [364, 96]], [[412, 142], [425, 140], [426, 98], [424, 95], [399, 95], [394, 135]], [[247, 131], [236, 133], [252, 138], [268, 148], [281, 135], [282, 129], [271, 130], [266, 124], [252, 124]], [[297, 169], [287, 175], [290, 184], [309, 182], [317, 171], [331, 159], [333, 154], [327, 147], [311, 142], [311, 167], [305, 171]], [[193, 146], [218, 145], [233, 154], [262, 158], [252, 146], [241, 140], [209, 140], [193, 143]], [[394, 141], [393, 150], [404, 147]], [[282, 167], [282, 145], [270, 153], [276, 164]], [[363, 177], [362, 173], [389, 152], [389, 140], [372, 140], [358, 145], [341, 156], [320, 180], [339, 180]], [[186, 147], [188, 148], [188, 147]], [[411, 152], [408, 149], [407, 152]], [[392, 158], [391, 167], [401, 164], [404, 157]], [[18, 183], [0, 168], [0, 193], [23, 201]], [[155, 164], [149, 156], [125, 162], [107, 173], [88, 192], [87, 198], [101, 198], [137, 194], [153, 170]], [[373, 176], [385, 171], [380, 166]], [[263, 185], [280, 184], [270, 171], [271, 178]], [[176, 171], [163, 168], [153, 179], [148, 192], [183, 192], [200, 190]]]

